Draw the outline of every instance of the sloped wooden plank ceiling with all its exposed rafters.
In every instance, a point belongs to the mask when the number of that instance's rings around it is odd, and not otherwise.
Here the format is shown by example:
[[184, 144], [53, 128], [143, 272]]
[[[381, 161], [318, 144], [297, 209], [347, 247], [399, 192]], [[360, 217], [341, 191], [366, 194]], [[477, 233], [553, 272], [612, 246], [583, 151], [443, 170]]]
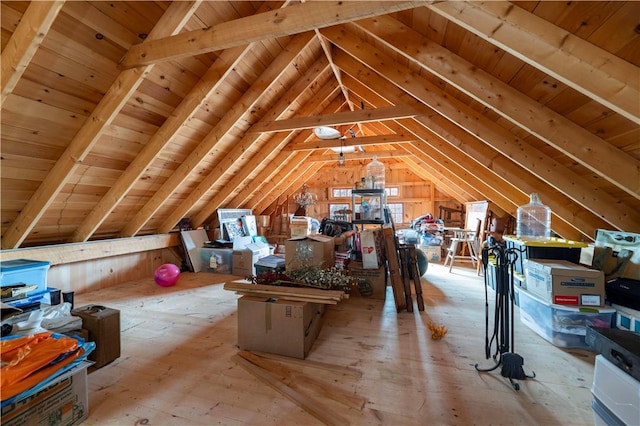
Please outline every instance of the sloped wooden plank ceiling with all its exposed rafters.
[[[2, 1], [2, 248], [260, 214], [340, 141], [640, 232], [640, 2]], [[354, 154], [353, 157], [357, 158]]]

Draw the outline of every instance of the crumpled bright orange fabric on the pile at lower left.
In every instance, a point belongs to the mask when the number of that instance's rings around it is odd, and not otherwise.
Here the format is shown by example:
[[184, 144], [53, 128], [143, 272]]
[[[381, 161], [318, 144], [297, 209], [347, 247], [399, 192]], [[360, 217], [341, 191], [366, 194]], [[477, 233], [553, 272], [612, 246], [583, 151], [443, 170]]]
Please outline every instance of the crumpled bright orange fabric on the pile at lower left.
[[[32, 373], [46, 367], [60, 355], [78, 348], [78, 341], [72, 337], [54, 338], [35, 335], [27, 344], [16, 346], [8, 353], [2, 353], [0, 387], [14, 385]], [[4, 398], [3, 398], [4, 399]]]

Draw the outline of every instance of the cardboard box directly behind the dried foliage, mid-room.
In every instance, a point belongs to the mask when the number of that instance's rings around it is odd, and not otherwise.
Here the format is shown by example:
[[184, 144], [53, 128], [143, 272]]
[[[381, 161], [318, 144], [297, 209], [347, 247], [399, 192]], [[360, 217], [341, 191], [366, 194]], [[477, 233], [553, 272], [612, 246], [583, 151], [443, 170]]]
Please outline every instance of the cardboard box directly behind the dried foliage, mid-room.
[[287, 269], [301, 269], [307, 266], [330, 268], [334, 265], [333, 237], [307, 235], [285, 241]]

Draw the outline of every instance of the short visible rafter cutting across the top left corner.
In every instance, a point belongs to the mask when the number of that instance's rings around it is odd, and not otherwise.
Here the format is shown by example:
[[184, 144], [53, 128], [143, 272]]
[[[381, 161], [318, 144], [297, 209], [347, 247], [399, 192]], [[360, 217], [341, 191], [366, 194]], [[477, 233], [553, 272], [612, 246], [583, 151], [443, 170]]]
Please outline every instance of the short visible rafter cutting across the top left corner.
[[36, 54], [42, 40], [56, 20], [64, 1], [30, 2], [27, 10], [20, 18], [20, 23], [11, 34], [9, 42], [2, 50], [2, 74], [0, 87], [2, 101], [0, 106], [13, 92], [20, 77], [27, 69], [31, 58]]

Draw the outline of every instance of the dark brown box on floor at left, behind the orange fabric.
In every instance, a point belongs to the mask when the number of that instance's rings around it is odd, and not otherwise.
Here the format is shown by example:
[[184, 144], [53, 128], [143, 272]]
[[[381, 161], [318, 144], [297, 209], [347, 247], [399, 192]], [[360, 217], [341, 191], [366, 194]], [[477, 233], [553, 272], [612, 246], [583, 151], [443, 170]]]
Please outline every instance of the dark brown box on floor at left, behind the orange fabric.
[[120, 357], [120, 311], [100, 305], [86, 305], [71, 311], [82, 318], [82, 328], [89, 331], [89, 341], [96, 348], [88, 358], [100, 368]]

